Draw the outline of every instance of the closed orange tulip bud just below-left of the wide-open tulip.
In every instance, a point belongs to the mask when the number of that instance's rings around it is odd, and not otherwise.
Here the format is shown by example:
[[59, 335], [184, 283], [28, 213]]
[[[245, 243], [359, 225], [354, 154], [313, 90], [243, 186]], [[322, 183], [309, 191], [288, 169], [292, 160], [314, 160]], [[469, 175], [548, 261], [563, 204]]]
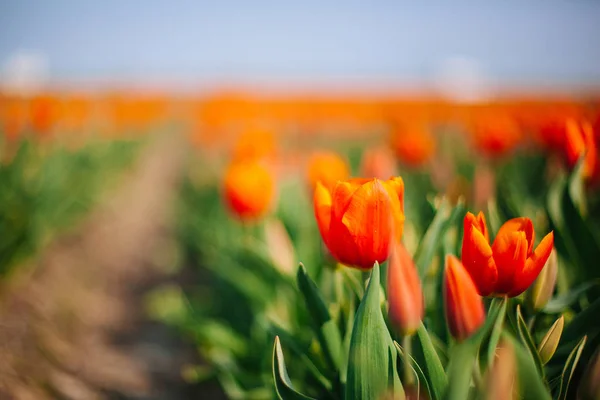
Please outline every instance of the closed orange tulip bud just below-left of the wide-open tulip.
[[462, 263], [453, 255], [446, 256], [444, 307], [452, 336], [464, 340], [485, 321], [485, 310], [475, 283]]

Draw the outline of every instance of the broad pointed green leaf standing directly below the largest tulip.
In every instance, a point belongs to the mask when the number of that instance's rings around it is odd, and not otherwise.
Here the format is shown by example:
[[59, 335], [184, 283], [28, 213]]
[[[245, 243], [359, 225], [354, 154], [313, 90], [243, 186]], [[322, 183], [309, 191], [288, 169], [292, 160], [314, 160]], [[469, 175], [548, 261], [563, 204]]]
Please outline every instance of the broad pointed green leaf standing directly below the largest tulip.
[[345, 398], [379, 400], [393, 393], [404, 398], [396, 368], [396, 347], [385, 324], [380, 307], [379, 264], [362, 298], [352, 329]]

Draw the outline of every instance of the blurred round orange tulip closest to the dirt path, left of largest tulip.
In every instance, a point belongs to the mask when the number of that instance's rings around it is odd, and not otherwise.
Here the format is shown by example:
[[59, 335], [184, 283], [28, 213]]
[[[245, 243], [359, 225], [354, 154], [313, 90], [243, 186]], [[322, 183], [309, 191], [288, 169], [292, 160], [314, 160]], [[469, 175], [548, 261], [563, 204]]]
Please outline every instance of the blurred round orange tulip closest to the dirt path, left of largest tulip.
[[274, 194], [273, 175], [257, 161], [234, 162], [225, 174], [225, 201], [242, 220], [263, 216], [269, 210]]

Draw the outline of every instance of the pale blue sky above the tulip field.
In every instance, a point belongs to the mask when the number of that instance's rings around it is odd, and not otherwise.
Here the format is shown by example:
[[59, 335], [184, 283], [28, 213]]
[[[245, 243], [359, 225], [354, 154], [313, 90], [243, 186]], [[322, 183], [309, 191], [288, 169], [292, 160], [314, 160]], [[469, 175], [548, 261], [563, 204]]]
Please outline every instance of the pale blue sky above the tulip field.
[[427, 80], [466, 57], [500, 81], [599, 84], [599, 38], [594, 0], [0, 0], [0, 66], [34, 52], [60, 79]]

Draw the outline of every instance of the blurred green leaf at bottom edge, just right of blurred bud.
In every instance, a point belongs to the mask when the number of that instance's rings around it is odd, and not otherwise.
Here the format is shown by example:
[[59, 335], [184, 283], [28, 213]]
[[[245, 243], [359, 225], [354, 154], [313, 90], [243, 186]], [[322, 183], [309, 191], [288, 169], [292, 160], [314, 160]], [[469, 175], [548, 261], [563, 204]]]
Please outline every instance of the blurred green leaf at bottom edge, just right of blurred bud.
[[511, 343], [517, 361], [520, 398], [524, 400], [550, 400], [552, 397], [538, 373], [531, 353], [512, 335], [505, 333], [503, 340]]

